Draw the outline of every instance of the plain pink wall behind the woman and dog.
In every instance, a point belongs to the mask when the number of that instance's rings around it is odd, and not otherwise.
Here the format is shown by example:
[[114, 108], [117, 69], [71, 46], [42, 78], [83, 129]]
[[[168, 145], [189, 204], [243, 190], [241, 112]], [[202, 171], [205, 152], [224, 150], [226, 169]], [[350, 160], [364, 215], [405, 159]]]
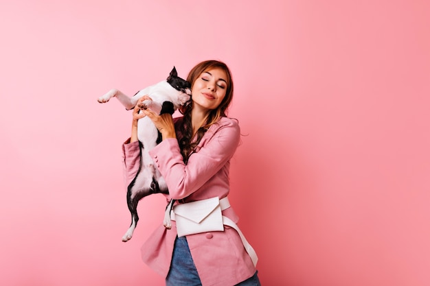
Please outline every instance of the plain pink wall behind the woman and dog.
[[430, 2], [1, 1], [0, 285], [163, 285], [130, 223], [133, 95], [223, 60], [263, 285], [430, 285]]

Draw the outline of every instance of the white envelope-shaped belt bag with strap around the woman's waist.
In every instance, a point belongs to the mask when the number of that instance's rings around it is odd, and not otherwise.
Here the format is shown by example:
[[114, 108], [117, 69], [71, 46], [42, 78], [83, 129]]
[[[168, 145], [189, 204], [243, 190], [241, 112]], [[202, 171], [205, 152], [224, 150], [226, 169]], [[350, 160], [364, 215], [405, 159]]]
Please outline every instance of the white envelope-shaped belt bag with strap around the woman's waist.
[[258, 257], [248, 243], [245, 236], [240, 231], [239, 227], [228, 217], [225, 217], [221, 211], [230, 207], [228, 198], [219, 199], [218, 197], [178, 204], [170, 211], [168, 215], [168, 206], [165, 216], [166, 218], [176, 221], [178, 237], [185, 235], [194, 235], [196, 233], [207, 233], [210, 231], [223, 231], [224, 225], [234, 228], [242, 239], [243, 246], [247, 250], [254, 265], [257, 265]]

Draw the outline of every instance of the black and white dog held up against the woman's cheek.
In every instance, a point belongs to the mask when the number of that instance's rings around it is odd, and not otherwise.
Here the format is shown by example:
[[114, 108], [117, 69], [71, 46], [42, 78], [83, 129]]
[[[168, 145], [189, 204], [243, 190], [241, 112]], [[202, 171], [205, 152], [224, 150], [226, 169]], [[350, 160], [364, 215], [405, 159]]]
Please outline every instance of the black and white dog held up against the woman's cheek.
[[[98, 102], [109, 102], [109, 99], [116, 97], [127, 110], [135, 107], [137, 99], [144, 95], [149, 95], [152, 100], [144, 100], [141, 109], [149, 108], [158, 113], [174, 113], [179, 106], [188, 102], [191, 98], [191, 84], [177, 75], [173, 67], [167, 80], [163, 80], [152, 86], [148, 86], [137, 92], [133, 97], [128, 97], [117, 89], [112, 89], [108, 93], [98, 98]], [[128, 228], [122, 241], [128, 241], [133, 236], [139, 216], [137, 215], [137, 204], [139, 200], [152, 193], [168, 193], [166, 181], [163, 179], [157, 167], [155, 167], [148, 151], [161, 142], [161, 134], [154, 123], [148, 118], [139, 119], [137, 123], [137, 138], [141, 147], [141, 163], [139, 171], [134, 180], [128, 185], [127, 204], [131, 213], [131, 226]]]

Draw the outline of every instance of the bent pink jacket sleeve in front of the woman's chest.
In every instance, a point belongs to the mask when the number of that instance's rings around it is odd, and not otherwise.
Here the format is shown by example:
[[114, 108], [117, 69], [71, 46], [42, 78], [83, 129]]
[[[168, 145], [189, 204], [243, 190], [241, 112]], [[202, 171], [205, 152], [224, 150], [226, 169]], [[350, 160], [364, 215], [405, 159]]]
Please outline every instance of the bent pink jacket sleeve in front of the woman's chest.
[[[165, 139], [150, 150], [161, 175], [168, 185], [170, 198], [180, 200], [210, 180], [230, 160], [240, 141], [240, 128], [234, 120], [211, 126], [212, 136], [205, 139], [190, 155], [187, 165], [177, 139]], [[203, 142], [204, 140], [204, 142]]]

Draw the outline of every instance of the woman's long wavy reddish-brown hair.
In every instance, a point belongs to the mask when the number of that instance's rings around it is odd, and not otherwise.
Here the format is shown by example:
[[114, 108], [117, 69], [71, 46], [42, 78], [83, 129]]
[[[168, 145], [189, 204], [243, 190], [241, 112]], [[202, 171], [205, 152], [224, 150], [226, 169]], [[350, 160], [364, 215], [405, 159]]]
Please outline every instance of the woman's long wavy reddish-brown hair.
[[188, 73], [187, 78], [188, 82], [191, 83], [191, 88], [192, 86], [194, 86], [194, 82], [196, 81], [196, 79], [199, 78], [199, 76], [203, 72], [210, 69], [222, 69], [223, 71], [225, 71], [227, 75], [227, 90], [225, 91], [225, 97], [223, 98], [223, 101], [220, 103], [218, 108], [210, 111], [205, 124], [201, 128], [199, 128], [199, 130], [197, 130], [196, 140], [194, 141], [192, 140], [193, 130], [191, 123], [191, 110], [193, 102], [192, 100], [190, 100], [189, 102], [187, 102], [187, 104], [184, 104], [183, 106], [179, 107], [179, 112], [183, 114], [183, 120], [180, 126], [180, 131], [183, 137], [179, 141], [179, 146], [181, 147], [181, 154], [185, 163], [187, 163], [188, 156], [190, 156], [190, 153], [192, 152], [192, 150], [194, 150], [196, 145], [199, 144], [206, 130], [208, 130], [210, 126], [212, 126], [212, 124], [218, 122], [221, 117], [227, 117], [227, 108], [231, 103], [231, 99], [233, 99], [234, 88], [230, 70], [227, 67], [227, 64], [218, 60], [205, 60], [204, 62], [196, 64], [196, 66], [191, 69], [190, 73]]

